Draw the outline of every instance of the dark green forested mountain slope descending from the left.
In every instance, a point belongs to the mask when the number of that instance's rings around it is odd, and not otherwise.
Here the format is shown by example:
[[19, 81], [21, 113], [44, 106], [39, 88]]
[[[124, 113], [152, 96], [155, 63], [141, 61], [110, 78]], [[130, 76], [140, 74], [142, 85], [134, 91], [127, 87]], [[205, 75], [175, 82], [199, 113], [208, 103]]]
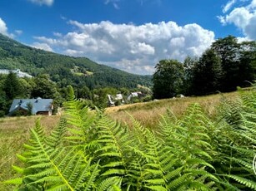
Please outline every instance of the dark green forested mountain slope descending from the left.
[[151, 86], [151, 76], [139, 76], [100, 65], [86, 57], [63, 56], [28, 47], [0, 34], [0, 69], [20, 69], [32, 76], [48, 74], [59, 87]]

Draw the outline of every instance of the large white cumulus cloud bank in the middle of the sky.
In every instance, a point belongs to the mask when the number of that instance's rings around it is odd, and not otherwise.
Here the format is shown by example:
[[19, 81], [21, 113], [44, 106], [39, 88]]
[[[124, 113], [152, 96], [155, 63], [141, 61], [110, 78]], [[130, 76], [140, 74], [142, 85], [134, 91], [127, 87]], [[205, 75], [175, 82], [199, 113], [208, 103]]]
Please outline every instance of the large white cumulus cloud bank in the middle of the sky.
[[161, 59], [183, 61], [200, 56], [214, 40], [214, 33], [198, 24], [176, 22], [133, 24], [69, 21], [75, 30], [53, 38], [35, 37], [63, 54], [87, 56], [93, 61], [138, 74], [152, 74]]

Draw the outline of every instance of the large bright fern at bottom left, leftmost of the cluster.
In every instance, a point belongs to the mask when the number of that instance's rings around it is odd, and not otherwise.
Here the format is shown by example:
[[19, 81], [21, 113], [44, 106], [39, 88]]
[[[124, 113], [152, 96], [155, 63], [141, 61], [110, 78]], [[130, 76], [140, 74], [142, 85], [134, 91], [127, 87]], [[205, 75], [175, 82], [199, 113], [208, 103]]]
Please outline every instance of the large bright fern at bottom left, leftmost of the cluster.
[[[37, 121], [36, 128], [31, 130], [30, 144], [24, 144], [27, 151], [23, 154], [26, 162], [24, 169], [13, 166], [18, 173], [23, 174], [22, 179], [8, 180], [8, 184], [19, 184], [21, 189], [28, 190], [80, 190], [90, 188], [98, 175], [98, 165], [93, 167], [86, 161], [83, 153], [76, 152], [68, 147], [58, 147], [54, 140], [62, 135], [63, 123], [53, 130], [49, 139], [43, 135], [43, 130]], [[54, 145], [54, 147], [53, 147]], [[83, 168], [87, 166], [87, 168]], [[90, 178], [90, 179], [89, 179]], [[84, 182], [88, 179], [88, 184]], [[21, 181], [22, 180], [22, 181]]]

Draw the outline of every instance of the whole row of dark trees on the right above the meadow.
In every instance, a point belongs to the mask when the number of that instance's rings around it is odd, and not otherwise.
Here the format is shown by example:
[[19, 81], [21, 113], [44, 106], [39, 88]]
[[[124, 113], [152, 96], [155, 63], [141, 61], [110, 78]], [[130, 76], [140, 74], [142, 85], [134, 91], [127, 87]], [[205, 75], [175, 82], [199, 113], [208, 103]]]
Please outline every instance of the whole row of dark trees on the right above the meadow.
[[185, 61], [162, 60], [155, 66], [153, 96], [202, 96], [250, 86], [256, 77], [256, 42], [219, 38], [203, 55]]

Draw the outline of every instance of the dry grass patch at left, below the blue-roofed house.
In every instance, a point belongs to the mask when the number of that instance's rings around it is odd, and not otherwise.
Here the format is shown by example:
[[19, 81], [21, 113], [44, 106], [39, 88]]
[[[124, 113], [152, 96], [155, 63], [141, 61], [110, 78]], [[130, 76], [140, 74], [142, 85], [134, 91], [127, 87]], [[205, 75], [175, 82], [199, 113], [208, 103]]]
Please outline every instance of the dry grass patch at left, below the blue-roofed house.
[[[58, 124], [60, 116], [42, 116], [41, 123], [46, 130]], [[15, 154], [23, 150], [23, 143], [29, 138], [29, 129], [33, 128], [38, 116], [0, 118], [0, 190], [13, 190], [1, 184], [1, 181], [15, 176], [12, 164], [18, 164]]]

